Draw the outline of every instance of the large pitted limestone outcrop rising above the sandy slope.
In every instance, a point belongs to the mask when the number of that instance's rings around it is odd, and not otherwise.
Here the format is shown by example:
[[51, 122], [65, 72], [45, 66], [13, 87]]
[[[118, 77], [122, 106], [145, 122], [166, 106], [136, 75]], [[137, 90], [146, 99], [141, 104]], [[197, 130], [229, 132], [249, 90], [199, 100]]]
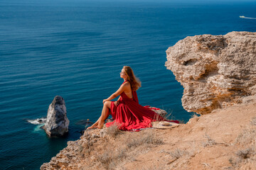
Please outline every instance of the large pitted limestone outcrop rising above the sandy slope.
[[206, 114], [255, 100], [247, 99], [256, 94], [256, 33], [187, 37], [169, 47], [166, 55], [166, 68], [184, 88], [186, 111]]

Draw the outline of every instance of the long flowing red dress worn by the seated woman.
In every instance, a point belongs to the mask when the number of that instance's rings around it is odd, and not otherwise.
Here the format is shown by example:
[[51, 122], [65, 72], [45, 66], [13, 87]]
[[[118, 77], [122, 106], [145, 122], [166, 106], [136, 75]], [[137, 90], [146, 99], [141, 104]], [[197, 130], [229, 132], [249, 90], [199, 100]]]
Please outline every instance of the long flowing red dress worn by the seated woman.
[[[129, 98], [124, 92], [120, 96], [117, 106], [114, 105], [114, 101], [111, 102], [110, 113], [114, 121], [106, 123], [106, 127], [117, 124], [120, 130], [140, 130], [151, 128], [151, 122], [165, 120], [147, 106], [139, 105], [136, 91], [132, 91], [133, 98]], [[178, 123], [177, 120], [171, 122]]]

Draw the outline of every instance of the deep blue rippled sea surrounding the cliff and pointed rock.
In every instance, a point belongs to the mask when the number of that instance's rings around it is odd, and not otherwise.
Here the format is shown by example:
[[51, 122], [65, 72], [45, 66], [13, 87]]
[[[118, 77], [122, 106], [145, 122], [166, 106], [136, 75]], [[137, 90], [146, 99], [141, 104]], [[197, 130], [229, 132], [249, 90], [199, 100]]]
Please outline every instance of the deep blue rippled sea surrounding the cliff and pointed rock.
[[[139, 103], [184, 123], [183, 87], [164, 66], [166, 50], [187, 36], [256, 31], [256, 1], [0, 0], [0, 169], [39, 169], [97, 120], [124, 65], [142, 81]], [[63, 96], [68, 137], [41, 125]]]

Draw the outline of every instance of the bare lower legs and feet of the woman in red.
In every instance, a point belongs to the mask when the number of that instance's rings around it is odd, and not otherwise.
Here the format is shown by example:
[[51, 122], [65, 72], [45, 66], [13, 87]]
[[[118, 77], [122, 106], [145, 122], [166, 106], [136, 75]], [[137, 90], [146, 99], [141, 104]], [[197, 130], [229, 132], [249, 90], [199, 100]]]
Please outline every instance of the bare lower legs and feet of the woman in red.
[[[89, 128], [87, 129], [93, 129], [93, 128], [102, 128], [102, 126], [104, 125], [104, 121], [107, 119], [107, 117], [109, 116], [110, 113], [110, 106], [111, 106], [111, 101], [106, 101], [104, 103], [104, 106], [102, 108], [102, 115], [100, 115], [100, 118], [93, 124], [91, 125]], [[100, 125], [99, 125], [100, 123]]]

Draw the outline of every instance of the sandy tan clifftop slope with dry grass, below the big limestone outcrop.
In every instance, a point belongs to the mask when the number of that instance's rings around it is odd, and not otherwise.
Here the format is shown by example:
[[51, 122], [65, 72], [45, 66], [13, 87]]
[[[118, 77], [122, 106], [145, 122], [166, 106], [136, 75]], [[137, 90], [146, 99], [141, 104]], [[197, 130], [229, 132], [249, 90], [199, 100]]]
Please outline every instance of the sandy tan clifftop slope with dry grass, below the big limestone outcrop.
[[[75, 156], [68, 158], [72, 148]], [[256, 103], [165, 130], [90, 130], [47, 165], [41, 169], [256, 169]]]

